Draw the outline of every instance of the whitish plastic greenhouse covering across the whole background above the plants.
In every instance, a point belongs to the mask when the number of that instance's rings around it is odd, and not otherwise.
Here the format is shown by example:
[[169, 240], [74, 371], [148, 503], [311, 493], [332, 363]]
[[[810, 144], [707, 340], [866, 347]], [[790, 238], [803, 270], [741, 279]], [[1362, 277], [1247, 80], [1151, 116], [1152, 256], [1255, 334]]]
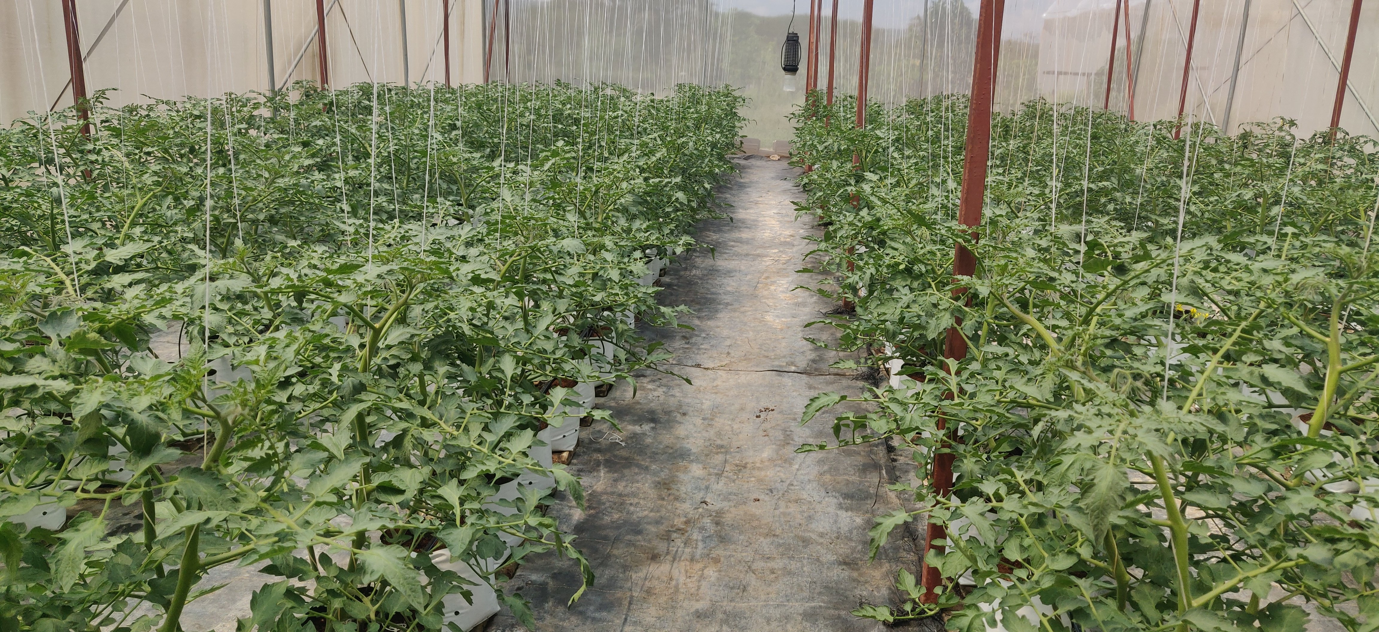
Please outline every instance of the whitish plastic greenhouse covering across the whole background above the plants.
[[[787, 29], [807, 37], [809, 0], [328, 0], [331, 83], [444, 81], [447, 1], [454, 83], [485, 76], [514, 83], [612, 81], [644, 92], [663, 92], [676, 83], [727, 83], [752, 99], [746, 135], [763, 146], [789, 138], [785, 116], [804, 98], [803, 90], [782, 90], [779, 47]], [[114, 88], [110, 105], [266, 91], [320, 79], [312, 0], [76, 4], [87, 90]], [[838, 3], [834, 84], [840, 92], [858, 87], [862, 4]], [[1008, 109], [1034, 97], [1102, 105], [1117, 6], [1116, 0], [1008, 0], [997, 106]], [[1222, 127], [1277, 116], [1295, 119], [1305, 132], [1327, 127], [1350, 7], [1350, 0], [1200, 3], [1186, 112]], [[965, 92], [975, 8], [975, 0], [877, 0], [872, 98], [895, 103]], [[827, 0], [823, 10], [821, 88], [826, 88], [830, 41]], [[1131, 0], [1121, 11], [1131, 22], [1136, 119], [1176, 116], [1191, 12], [1193, 0]], [[1376, 134], [1379, 4], [1364, 7], [1356, 41], [1340, 127]], [[1111, 69], [1109, 105], [1118, 110], [1128, 106], [1125, 44], [1121, 34]], [[0, 69], [6, 121], [72, 103], [61, 1], [0, 3]]]

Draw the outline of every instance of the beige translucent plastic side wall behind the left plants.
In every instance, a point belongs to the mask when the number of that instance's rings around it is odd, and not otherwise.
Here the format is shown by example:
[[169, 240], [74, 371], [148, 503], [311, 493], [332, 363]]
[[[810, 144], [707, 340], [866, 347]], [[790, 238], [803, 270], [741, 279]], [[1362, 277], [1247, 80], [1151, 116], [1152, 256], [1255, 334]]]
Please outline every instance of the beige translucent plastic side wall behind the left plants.
[[[325, 0], [331, 83], [444, 80], [445, 3], [452, 81], [481, 81], [480, 0]], [[314, 0], [77, 0], [76, 7], [87, 91], [113, 88], [112, 105], [320, 80]], [[70, 87], [61, 1], [0, 0], [0, 121], [70, 106]]]

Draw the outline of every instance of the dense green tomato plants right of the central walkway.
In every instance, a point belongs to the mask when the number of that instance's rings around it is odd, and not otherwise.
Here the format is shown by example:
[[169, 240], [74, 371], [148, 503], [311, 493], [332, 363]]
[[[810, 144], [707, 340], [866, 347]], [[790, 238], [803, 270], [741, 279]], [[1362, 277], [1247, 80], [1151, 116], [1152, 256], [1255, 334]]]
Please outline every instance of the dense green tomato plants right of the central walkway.
[[895, 488], [914, 504], [877, 519], [873, 551], [916, 519], [946, 530], [936, 595], [900, 571], [903, 606], [855, 614], [1298, 632], [1307, 602], [1379, 625], [1373, 139], [1033, 101], [993, 115], [968, 228], [967, 98], [872, 105], [865, 130], [849, 108], [797, 113], [800, 208], [826, 226], [818, 291], [855, 306], [825, 323], [888, 384], [801, 450], [913, 458]]

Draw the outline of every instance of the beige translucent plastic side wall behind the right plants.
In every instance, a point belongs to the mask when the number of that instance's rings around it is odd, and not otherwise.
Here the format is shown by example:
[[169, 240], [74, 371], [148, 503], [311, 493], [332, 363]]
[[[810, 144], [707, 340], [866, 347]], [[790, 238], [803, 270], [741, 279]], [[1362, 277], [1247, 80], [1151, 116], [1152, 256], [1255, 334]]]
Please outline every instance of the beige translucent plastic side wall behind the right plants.
[[[1114, 8], [1116, 0], [1049, 6], [1040, 33], [1043, 97], [1105, 103]], [[1328, 127], [1350, 8], [1350, 0], [1202, 1], [1185, 116], [1229, 128], [1278, 116], [1295, 119], [1302, 131]], [[1191, 12], [1191, 0], [1131, 1], [1134, 66], [1127, 77], [1123, 22], [1111, 73], [1113, 109], [1127, 110], [1127, 79], [1132, 79], [1136, 119], [1178, 116]], [[1376, 50], [1379, 6], [1369, 3], [1360, 15], [1340, 117], [1340, 127], [1351, 134], [1379, 132], [1372, 105], [1379, 101]]]

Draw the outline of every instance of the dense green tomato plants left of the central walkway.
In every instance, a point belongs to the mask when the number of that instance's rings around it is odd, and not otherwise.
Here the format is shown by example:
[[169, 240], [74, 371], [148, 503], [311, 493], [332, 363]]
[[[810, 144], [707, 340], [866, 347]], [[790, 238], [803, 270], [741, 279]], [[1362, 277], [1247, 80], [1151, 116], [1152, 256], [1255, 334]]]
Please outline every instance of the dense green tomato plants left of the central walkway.
[[541, 552], [593, 581], [552, 447], [666, 357], [634, 324], [741, 97], [102, 99], [0, 130], [3, 629], [172, 632], [225, 564], [284, 632], [530, 624], [495, 571]]

